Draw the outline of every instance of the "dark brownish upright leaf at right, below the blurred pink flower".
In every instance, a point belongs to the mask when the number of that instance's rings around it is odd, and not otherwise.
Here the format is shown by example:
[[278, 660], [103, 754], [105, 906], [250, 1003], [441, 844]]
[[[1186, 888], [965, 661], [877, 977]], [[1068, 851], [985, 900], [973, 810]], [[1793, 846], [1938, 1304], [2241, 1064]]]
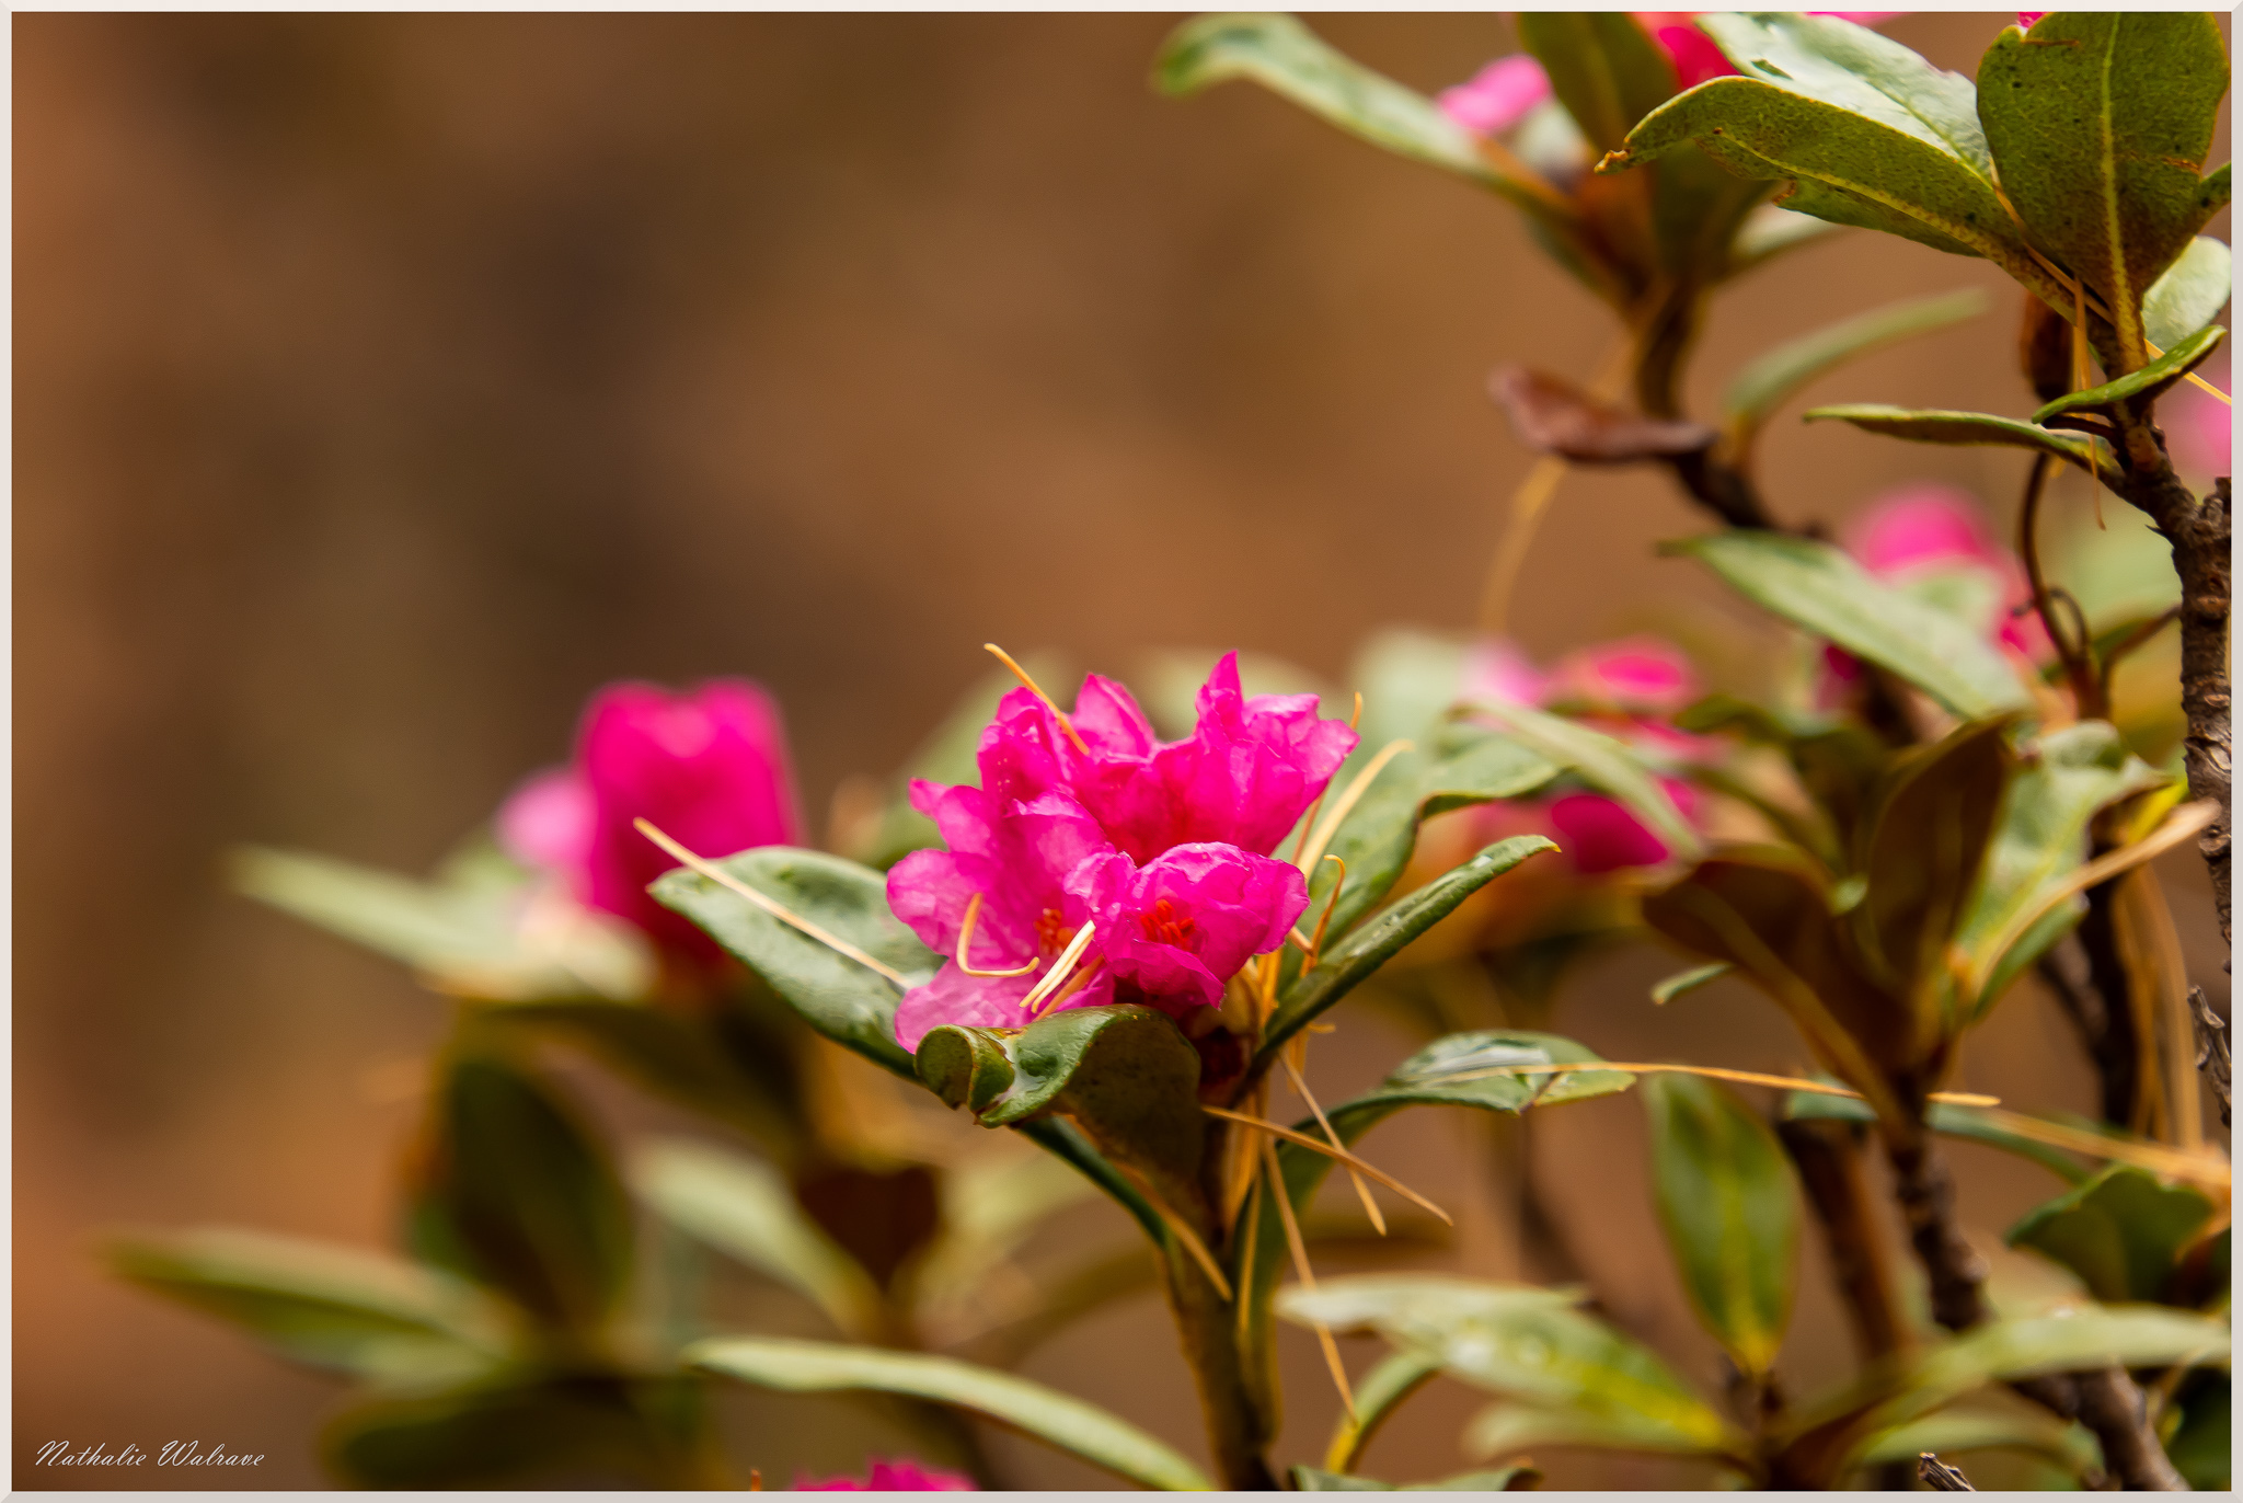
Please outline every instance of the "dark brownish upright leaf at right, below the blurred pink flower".
[[1862, 902], [1846, 913], [1857, 953], [1889, 994], [1913, 1001], [1924, 1030], [1951, 1025], [1929, 1007], [1949, 978], [1949, 940], [1978, 886], [2016, 767], [2007, 729], [2005, 718], [1974, 720], [1902, 754], [1855, 859], [1868, 877]]

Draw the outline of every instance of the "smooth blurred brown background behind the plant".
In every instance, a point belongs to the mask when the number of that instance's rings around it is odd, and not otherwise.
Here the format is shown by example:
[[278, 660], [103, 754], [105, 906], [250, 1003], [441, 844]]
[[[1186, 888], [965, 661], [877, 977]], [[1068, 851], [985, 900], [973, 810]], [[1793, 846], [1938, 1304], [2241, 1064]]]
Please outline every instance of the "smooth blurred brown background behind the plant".
[[[1969, 72], [2005, 20], [1889, 31]], [[1171, 25], [13, 20], [18, 1485], [197, 1485], [27, 1465], [49, 1440], [173, 1438], [267, 1451], [258, 1485], [323, 1481], [327, 1382], [90, 1261], [119, 1223], [388, 1241], [415, 1108], [368, 1081], [437, 1036], [440, 1003], [224, 895], [229, 843], [422, 870], [559, 760], [583, 695], [619, 675], [760, 677], [823, 810], [846, 774], [908, 754], [985, 639], [1124, 673], [1148, 644], [1339, 673], [1379, 624], [1471, 624], [1527, 464], [1485, 372], [1586, 377], [1608, 319], [1494, 200], [1252, 87], [1155, 96]], [[1496, 16], [1314, 25], [1427, 90], [1512, 49]], [[1729, 289], [1698, 406], [1779, 336], [1960, 285], [1999, 312], [1810, 395], [2023, 411], [2003, 278], [1868, 236]], [[1927, 476], [2007, 518], [2023, 469], [1794, 422], [1765, 453], [1788, 518]], [[1644, 624], [1756, 630], [1653, 559], [1693, 529], [1653, 476], [1568, 478], [1519, 635], [1550, 653]], [[2200, 868], [2167, 884], [2221, 983]], [[1743, 992], [1653, 1012], [1664, 969], [1595, 967], [1557, 1027], [1608, 1057], [1797, 1063]], [[1411, 1048], [1350, 1027], [1362, 1050], [1326, 1061], [1339, 1088]], [[1965, 1077], [2088, 1106], [2028, 994]], [[1637, 1122], [1624, 1099], [1552, 1113], [1539, 1171], [1599, 1283], [1711, 1380]], [[1485, 1140], [1460, 1124], [1375, 1146], [1467, 1207], [1485, 1193]], [[1983, 1241], [2055, 1191], [1958, 1158]], [[1462, 1265], [1507, 1272], [1496, 1214], [1467, 1232]], [[1810, 1245], [1808, 1377], [1848, 1359], [1817, 1270]], [[1287, 1362], [1299, 1460], [1337, 1400], [1310, 1344]], [[1148, 1301], [1027, 1371], [1198, 1451]], [[794, 1456], [776, 1409], [740, 1409], [769, 1447], [742, 1463], [848, 1460]], [[1427, 1400], [1370, 1469], [1458, 1469], [1471, 1409]], [[1099, 1485], [1034, 1447], [1003, 1456], [1018, 1483]]]

